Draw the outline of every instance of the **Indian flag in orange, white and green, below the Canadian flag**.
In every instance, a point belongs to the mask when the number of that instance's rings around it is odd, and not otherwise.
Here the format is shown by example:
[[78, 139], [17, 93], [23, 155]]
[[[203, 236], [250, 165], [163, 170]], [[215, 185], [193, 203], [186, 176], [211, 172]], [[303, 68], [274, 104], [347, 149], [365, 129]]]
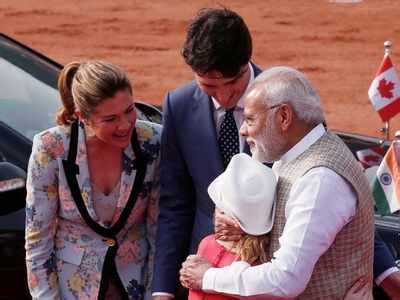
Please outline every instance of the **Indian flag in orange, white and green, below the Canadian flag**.
[[400, 168], [398, 154], [400, 144], [393, 142], [387, 151], [373, 183], [372, 193], [381, 215], [389, 215], [400, 209]]

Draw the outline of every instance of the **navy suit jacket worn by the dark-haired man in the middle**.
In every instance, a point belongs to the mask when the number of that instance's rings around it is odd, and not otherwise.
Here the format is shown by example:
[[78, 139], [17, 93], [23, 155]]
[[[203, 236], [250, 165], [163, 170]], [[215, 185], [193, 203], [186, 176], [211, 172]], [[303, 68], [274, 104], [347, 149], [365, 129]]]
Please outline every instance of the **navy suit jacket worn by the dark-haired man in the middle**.
[[[255, 76], [261, 73], [252, 66]], [[175, 293], [181, 263], [214, 230], [207, 187], [223, 165], [213, 110], [211, 98], [194, 81], [164, 101], [154, 292]]]

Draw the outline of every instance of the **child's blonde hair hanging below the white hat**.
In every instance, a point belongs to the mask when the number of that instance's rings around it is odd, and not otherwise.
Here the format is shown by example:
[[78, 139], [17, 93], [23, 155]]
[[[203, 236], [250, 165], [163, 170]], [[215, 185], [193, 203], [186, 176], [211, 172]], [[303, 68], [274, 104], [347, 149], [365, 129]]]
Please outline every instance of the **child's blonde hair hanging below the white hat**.
[[258, 265], [268, 262], [269, 234], [250, 235], [245, 234], [237, 243], [238, 255], [240, 260], [248, 262], [250, 265]]

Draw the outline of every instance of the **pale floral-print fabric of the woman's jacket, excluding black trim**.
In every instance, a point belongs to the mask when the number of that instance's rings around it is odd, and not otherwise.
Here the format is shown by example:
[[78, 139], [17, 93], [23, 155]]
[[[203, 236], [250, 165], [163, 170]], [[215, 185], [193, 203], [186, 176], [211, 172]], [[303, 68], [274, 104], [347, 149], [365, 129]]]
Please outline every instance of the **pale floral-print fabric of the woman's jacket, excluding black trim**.
[[[147, 171], [135, 206], [118, 233], [116, 266], [130, 299], [149, 299], [159, 198], [161, 126], [137, 121], [136, 132]], [[97, 299], [108, 245], [80, 216], [71, 196], [62, 160], [67, 158], [69, 126], [34, 137], [28, 165], [26, 200], [26, 263], [33, 299]], [[101, 159], [101, 158], [99, 158]], [[87, 165], [84, 127], [79, 127], [77, 181], [89, 215], [96, 215]], [[112, 217], [117, 222], [136, 175], [129, 145], [123, 153], [119, 198]]]

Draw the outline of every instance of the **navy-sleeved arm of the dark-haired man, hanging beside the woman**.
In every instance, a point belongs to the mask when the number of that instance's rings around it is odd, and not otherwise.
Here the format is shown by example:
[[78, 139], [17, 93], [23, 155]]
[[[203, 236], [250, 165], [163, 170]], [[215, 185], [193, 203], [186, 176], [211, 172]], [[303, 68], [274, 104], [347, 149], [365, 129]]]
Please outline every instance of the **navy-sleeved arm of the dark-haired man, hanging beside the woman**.
[[194, 218], [194, 187], [182, 157], [167, 95], [161, 137], [160, 213], [157, 224], [153, 295], [174, 294], [178, 270], [187, 255]]

